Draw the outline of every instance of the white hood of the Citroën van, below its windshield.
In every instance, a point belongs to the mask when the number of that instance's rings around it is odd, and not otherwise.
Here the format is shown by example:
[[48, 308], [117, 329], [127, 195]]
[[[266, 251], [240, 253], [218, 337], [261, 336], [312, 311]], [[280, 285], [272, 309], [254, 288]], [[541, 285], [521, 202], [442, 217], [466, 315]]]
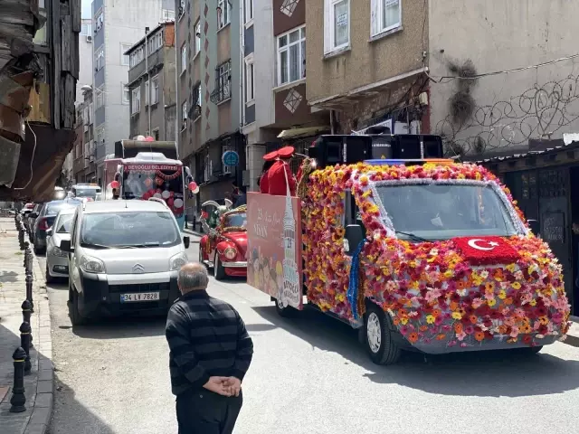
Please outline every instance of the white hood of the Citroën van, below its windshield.
[[183, 244], [165, 248], [84, 249], [84, 254], [100, 259], [107, 274], [147, 274], [169, 271], [169, 260], [185, 253]]

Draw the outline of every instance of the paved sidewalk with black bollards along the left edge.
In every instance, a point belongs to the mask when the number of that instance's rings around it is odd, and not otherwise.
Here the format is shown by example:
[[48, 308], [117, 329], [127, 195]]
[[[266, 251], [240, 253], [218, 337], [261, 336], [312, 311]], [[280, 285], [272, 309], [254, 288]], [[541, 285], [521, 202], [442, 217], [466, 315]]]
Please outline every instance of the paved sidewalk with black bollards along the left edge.
[[20, 346], [21, 305], [25, 298], [24, 254], [18, 243], [12, 217], [0, 218], [0, 432], [2, 434], [43, 434], [52, 412], [53, 372], [51, 319], [44, 276], [34, 259], [31, 318], [33, 345], [32, 373], [24, 376], [26, 411], [11, 413], [14, 379], [12, 354]]

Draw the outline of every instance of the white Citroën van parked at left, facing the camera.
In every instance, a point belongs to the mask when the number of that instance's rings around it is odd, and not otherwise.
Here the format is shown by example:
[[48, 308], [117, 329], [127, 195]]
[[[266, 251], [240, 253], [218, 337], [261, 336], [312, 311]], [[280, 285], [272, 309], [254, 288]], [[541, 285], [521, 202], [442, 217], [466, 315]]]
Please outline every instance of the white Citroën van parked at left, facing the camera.
[[179, 297], [178, 270], [189, 237], [157, 201], [82, 203], [71, 224], [68, 252], [73, 325], [100, 315], [161, 314]]

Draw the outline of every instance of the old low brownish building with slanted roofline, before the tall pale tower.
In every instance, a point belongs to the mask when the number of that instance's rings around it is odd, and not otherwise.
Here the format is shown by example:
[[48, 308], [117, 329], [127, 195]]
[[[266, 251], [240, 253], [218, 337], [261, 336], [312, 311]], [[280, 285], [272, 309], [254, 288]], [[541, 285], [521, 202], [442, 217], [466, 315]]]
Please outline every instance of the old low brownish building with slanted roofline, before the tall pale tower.
[[175, 23], [157, 25], [128, 56], [129, 136], [176, 140]]

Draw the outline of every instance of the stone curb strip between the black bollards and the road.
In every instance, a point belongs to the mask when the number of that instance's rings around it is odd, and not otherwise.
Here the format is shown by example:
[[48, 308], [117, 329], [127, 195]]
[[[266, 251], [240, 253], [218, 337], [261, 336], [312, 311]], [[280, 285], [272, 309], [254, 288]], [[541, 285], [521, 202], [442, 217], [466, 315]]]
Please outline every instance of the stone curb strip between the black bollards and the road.
[[[35, 332], [36, 363], [38, 379], [36, 381], [36, 399], [26, 425], [24, 434], [44, 434], [48, 429], [54, 402], [54, 366], [52, 364], [52, 320], [46, 290], [46, 280], [40, 262], [33, 256], [33, 276], [36, 290], [34, 295], [34, 314], [38, 321]], [[37, 346], [37, 347], [36, 347]]]

